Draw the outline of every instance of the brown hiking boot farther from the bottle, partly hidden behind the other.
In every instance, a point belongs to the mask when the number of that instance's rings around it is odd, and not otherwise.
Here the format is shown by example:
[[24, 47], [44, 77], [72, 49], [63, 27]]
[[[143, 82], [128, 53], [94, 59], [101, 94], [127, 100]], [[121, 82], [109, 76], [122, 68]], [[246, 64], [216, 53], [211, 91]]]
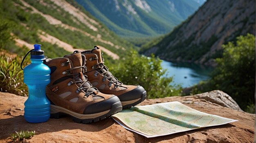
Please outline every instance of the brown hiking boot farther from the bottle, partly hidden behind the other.
[[116, 95], [122, 103], [123, 109], [131, 108], [146, 99], [146, 91], [139, 85], [124, 85], [117, 80], [104, 65], [100, 46], [94, 46], [92, 50], [81, 52], [86, 57], [88, 80], [93, 87], [100, 92]]

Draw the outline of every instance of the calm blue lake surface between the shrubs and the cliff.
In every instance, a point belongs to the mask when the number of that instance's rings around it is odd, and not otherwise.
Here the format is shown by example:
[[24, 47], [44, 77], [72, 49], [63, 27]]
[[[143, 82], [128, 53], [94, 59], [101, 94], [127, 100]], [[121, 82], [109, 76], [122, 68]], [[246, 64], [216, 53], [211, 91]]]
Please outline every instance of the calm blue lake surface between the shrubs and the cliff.
[[167, 69], [167, 76], [173, 76], [173, 82], [182, 87], [191, 87], [202, 80], [207, 80], [213, 67], [195, 63], [162, 62], [162, 67]]

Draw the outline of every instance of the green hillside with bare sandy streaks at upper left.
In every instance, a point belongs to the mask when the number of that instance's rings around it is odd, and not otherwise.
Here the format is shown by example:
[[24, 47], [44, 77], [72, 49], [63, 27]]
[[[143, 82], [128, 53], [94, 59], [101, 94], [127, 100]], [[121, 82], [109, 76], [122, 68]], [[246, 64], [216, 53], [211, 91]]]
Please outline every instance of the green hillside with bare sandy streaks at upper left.
[[[70, 2], [70, 3], [68, 3]], [[102, 45], [106, 58], [124, 56], [132, 45], [120, 39], [75, 1], [65, 0], [0, 0], [0, 21], [14, 28], [10, 34], [16, 45], [5, 47], [11, 52], [27, 51], [31, 44], [41, 43], [45, 54], [54, 58], [74, 50]], [[23, 47], [25, 46], [25, 47]], [[14, 48], [13, 48], [14, 47]]]

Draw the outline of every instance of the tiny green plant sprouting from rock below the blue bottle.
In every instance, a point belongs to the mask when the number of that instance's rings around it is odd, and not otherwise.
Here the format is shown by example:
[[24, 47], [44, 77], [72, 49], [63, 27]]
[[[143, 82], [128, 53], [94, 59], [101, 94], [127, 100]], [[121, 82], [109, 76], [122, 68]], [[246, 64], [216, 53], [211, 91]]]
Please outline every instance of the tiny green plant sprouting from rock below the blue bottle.
[[12, 133], [10, 136], [12, 141], [16, 142], [16, 141], [22, 141], [24, 139], [31, 139], [34, 135], [35, 135], [35, 131], [21, 130], [20, 132]]

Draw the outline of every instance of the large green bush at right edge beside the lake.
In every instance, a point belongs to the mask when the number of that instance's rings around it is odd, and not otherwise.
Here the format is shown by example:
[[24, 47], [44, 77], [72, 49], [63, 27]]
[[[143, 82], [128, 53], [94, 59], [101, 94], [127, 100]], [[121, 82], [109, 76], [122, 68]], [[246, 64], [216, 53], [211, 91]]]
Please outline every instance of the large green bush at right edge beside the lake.
[[211, 79], [197, 85], [193, 91], [206, 92], [219, 89], [229, 94], [244, 111], [254, 111], [255, 37], [247, 34], [237, 37], [236, 43], [222, 45], [223, 56]]

